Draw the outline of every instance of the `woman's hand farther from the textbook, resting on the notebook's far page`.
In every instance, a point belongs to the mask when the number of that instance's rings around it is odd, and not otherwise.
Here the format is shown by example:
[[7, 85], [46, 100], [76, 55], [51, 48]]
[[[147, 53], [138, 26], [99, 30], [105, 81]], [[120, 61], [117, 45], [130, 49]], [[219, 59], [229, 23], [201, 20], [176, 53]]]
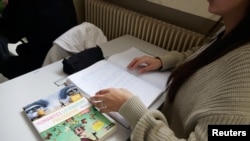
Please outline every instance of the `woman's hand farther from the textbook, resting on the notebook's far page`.
[[139, 73], [158, 70], [161, 67], [162, 67], [162, 62], [160, 59], [146, 55], [142, 57], [136, 57], [127, 66], [127, 68], [130, 70], [138, 69]]

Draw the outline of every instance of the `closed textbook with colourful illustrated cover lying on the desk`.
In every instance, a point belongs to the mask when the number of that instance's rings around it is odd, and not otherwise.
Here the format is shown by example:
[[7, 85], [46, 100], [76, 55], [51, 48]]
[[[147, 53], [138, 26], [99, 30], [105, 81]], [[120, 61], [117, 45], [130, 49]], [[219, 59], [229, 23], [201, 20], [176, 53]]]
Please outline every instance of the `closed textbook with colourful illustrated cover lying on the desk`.
[[23, 107], [44, 141], [104, 140], [116, 122], [93, 107], [73, 84]]

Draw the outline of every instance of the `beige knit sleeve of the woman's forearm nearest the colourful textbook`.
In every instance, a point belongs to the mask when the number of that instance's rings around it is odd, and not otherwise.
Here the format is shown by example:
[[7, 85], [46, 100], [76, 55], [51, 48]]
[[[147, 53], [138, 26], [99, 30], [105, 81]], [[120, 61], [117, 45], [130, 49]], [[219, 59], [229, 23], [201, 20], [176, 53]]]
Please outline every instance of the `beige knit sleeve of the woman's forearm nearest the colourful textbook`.
[[167, 120], [158, 110], [147, 110], [137, 96], [129, 99], [120, 108], [132, 128], [132, 141], [178, 140], [168, 127]]

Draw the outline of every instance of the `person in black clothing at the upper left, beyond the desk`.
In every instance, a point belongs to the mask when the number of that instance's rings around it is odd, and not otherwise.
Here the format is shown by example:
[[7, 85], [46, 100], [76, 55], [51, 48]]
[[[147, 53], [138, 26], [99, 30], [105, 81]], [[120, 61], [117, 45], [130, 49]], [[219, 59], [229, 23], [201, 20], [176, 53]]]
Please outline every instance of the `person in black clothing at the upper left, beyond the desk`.
[[0, 31], [9, 43], [24, 37], [17, 46], [18, 56], [0, 65], [8, 79], [40, 68], [53, 41], [77, 25], [73, 0], [9, 0], [2, 12]]

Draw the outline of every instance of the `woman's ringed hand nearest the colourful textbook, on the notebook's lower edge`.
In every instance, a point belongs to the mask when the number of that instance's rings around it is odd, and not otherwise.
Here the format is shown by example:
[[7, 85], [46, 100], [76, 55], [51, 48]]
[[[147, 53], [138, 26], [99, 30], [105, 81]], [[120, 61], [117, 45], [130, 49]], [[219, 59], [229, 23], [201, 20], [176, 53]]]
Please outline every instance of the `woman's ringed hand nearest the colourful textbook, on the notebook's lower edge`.
[[125, 89], [109, 88], [103, 89], [90, 98], [90, 102], [100, 109], [101, 112], [117, 112], [122, 104], [133, 95]]

